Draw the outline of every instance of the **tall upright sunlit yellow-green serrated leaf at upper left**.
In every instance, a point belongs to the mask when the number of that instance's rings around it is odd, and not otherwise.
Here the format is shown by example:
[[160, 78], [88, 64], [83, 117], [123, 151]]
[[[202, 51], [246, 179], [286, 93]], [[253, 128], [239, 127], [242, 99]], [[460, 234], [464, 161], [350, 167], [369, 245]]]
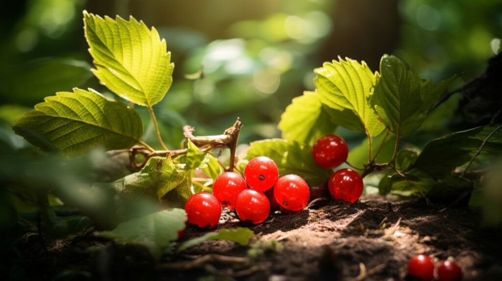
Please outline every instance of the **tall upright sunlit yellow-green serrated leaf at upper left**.
[[174, 64], [155, 28], [143, 22], [94, 16], [84, 11], [85, 38], [96, 69], [92, 73], [118, 96], [143, 106], [164, 98]]

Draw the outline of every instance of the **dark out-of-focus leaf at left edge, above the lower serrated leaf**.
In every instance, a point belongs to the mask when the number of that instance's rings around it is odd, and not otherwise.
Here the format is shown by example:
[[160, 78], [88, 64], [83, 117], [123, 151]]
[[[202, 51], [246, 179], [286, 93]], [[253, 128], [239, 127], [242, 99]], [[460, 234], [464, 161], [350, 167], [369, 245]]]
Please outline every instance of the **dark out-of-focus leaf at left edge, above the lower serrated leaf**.
[[0, 97], [9, 102], [37, 103], [82, 85], [92, 76], [90, 67], [84, 61], [53, 58], [7, 67], [0, 75]]

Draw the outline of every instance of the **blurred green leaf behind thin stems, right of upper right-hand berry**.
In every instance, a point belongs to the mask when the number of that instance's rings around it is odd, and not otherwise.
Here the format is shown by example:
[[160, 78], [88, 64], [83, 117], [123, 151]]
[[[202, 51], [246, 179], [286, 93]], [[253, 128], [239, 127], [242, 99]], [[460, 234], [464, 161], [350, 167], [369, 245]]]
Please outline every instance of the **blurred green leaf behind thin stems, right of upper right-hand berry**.
[[[382, 141], [384, 141], [386, 133], [383, 133], [379, 136], [372, 138], [371, 146], [373, 149], [371, 150], [371, 159], [373, 159], [376, 154], [378, 148], [382, 145]], [[376, 163], [387, 163], [391, 160], [392, 154], [394, 153], [394, 145], [396, 142], [396, 135], [389, 135], [385, 139], [385, 142], [380, 150], [379, 155], [376, 157]], [[368, 138], [365, 138], [362, 143], [354, 148], [352, 148], [347, 157], [347, 162], [350, 164], [362, 168], [365, 164], [369, 162], [369, 145]], [[361, 172], [361, 171], [358, 171]]]

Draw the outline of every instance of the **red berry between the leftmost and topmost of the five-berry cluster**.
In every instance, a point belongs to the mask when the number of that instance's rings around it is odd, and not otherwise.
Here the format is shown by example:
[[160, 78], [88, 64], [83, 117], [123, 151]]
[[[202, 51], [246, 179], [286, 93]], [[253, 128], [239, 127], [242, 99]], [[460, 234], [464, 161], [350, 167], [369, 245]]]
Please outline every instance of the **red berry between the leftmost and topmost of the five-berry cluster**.
[[226, 172], [219, 175], [213, 184], [213, 194], [222, 207], [235, 209], [235, 200], [240, 191], [247, 188], [245, 180], [238, 174]]

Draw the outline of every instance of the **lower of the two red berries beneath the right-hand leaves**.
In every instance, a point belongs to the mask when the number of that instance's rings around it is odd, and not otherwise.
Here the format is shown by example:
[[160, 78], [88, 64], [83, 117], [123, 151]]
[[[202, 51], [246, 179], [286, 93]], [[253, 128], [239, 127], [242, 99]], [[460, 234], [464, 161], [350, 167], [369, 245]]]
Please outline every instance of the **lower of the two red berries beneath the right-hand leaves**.
[[331, 175], [328, 188], [335, 200], [353, 203], [361, 197], [364, 184], [361, 176], [351, 169], [340, 169]]

